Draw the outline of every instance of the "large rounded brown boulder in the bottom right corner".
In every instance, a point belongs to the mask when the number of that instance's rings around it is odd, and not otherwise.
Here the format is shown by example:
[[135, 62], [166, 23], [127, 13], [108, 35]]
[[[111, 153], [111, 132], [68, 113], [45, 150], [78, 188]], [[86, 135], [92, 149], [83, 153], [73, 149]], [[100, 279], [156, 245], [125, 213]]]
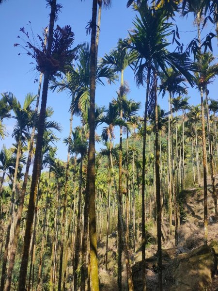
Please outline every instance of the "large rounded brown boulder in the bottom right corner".
[[174, 281], [170, 290], [206, 290], [217, 270], [217, 262], [217, 256], [207, 245], [202, 245], [188, 254], [178, 255], [167, 267]]

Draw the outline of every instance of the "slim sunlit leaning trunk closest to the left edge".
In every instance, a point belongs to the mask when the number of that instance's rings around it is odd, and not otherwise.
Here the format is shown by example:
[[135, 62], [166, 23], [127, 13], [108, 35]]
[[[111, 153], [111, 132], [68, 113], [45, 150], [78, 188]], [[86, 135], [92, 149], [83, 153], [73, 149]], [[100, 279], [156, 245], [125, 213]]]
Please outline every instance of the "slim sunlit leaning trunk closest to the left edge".
[[[21, 135], [21, 132], [20, 132], [20, 135]], [[20, 138], [20, 135], [19, 135], [19, 138]], [[9, 217], [8, 217], [8, 224], [7, 224], [7, 234], [6, 234], [6, 241], [5, 241], [5, 248], [4, 248], [3, 264], [2, 264], [2, 268], [1, 268], [2, 273], [1, 273], [0, 291], [4, 290], [4, 282], [5, 282], [5, 277], [6, 277], [6, 265], [7, 265], [7, 260], [8, 260], [10, 232], [11, 232], [11, 225], [12, 225], [12, 219], [13, 219], [13, 209], [14, 209], [14, 203], [15, 203], [16, 178], [17, 178], [17, 173], [18, 173], [20, 147], [21, 147], [21, 142], [19, 140], [18, 144], [17, 144], [15, 174], [14, 174], [11, 203], [10, 203], [10, 210], [9, 210]]]

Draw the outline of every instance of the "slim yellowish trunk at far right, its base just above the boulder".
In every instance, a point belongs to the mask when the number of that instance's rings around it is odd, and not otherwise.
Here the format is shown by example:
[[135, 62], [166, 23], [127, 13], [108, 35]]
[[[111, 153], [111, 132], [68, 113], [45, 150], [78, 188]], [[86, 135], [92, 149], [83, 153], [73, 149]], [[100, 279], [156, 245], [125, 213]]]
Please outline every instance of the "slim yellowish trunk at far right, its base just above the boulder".
[[203, 106], [203, 88], [201, 90], [201, 107], [202, 107], [202, 151], [203, 151], [203, 226], [204, 226], [204, 244], [207, 244], [208, 238], [208, 221], [207, 221], [207, 169], [206, 169], [206, 138], [204, 125], [204, 106]]

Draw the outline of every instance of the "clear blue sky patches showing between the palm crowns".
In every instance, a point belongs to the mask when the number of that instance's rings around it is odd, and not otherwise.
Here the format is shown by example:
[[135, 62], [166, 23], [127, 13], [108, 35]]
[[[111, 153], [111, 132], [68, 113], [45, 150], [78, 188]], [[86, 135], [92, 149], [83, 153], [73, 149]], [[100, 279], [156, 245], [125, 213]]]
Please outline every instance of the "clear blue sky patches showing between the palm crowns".
[[[59, 1], [58, 1], [59, 2]], [[112, 0], [110, 9], [104, 9], [102, 13], [102, 23], [99, 42], [99, 57], [116, 46], [119, 38], [125, 38], [128, 30], [133, 27], [132, 20], [135, 12], [131, 8], [126, 8], [127, 0]], [[86, 25], [92, 16], [91, 0], [62, 0], [62, 13], [59, 15], [57, 24], [60, 26], [71, 25], [75, 33], [75, 46], [83, 41], [90, 41], [91, 36], [86, 35]], [[30, 63], [32, 59], [23, 53], [22, 49], [14, 48], [14, 43], [19, 42], [17, 35], [21, 35], [19, 29], [27, 27], [31, 21], [31, 27], [34, 35], [42, 35], [43, 28], [48, 24], [49, 9], [46, 8], [45, 0], [8, 0], [0, 6], [0, 93], [12, 92], [23, 103], [24, 97], [28, 92], [37, 93], [38, 84], [34, 83], [34, 79], [38, 78], [39, 73], [33, 70], [34, 66]], [[176, 17], [176, 24], [180, 31], [180, 38], [184, 44], [187, 44], [196, 36], [196, 27], [193, 25], [193, 17], [187, 18]], [[202, 37], [208, 31], [214, 32], [211, 24], [208, 24]], [[190, 32], [193, 31], [193, 32]], [[213, 41], [214, 54], [217, 56], [217, 39]], [[18, 53], [21, 53], [18, 56]], [[141, 101], [142, 107], [140, 113], [144, 110], [145, 89], [138, 89], [134, 84], [133, 72], [127, 69], [125, 72], [125, 81], [130, 87], [129, 98]], [[109, 101], [116, 97], [116, 90], [119, 88], [119, 82], [115, 85], [107, 85], [105, 87], [98, 86], [96, 89], [96, 103], [98, 105], [108, 106]], [[218, 81], [209, 86], [210, 97], [217, 99]], [[188, 94], [191, 99], [190, 103], [200, 103], [199, 93], [196, 89], [190, 89]], [[49, 92], [47, 105], [54, 109], [53, 119], [62, 125], [62, 133], [57, 135], [61, 138], [58, 143], [58, 157], [66, 160], [66, 147], [62, 144], [62, 138], [66, 137], [69, 132], [69, 104], [70, 99], [67, 93]], [[167, 98], [159, 97], [161, 107], [167, 109]], [[13, 131], [13, 121], [5, 121], [9, 135]], [[79, 119], [75, 118], [73, 127], [79, 124]], [[98, 129], [100, 134], [100, 129]], [[9, 136], [5, 140], [0, 141], [0, 147], [3, 143], [11, 146], [13, 139]], [[96, 148], [99, 149], [99, 145]]]

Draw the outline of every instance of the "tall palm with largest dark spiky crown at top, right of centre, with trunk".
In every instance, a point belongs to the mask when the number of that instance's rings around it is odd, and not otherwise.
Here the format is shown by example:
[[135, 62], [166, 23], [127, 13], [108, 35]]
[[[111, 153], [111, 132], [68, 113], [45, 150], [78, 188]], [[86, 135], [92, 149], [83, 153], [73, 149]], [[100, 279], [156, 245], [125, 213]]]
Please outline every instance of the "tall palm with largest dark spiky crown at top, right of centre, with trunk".
[[[135, 5], [134, 9], [139, 12], [140, 17], [136, 16], [133, 22], [135, 28], [129, 32], [129, 41], [126, 46], [137, 51], [138, 60], [135, 68], [135, 78], [138, 85], [146, 82], [146, 98], [144, 111], [144, 133], [143, 133], [143, 151], [142, 151], [142, 261], [143, 274], [145, 274], [145, 209], [144, 209], [144, 192], [145, 192], [145, 145], [146, 145], [146, 125], [148, 101], [150, 95], [150, 83], [152, 73], [158, 74], [160, 69], [166, 72], [167, 65], [173, 70], [178, 70], [185, 75], [188, 81], [191, 81], [191, 75], [187, 69], [191, 68], [191, 62], [187, 59], [186, 54], [170, 53], [166, 47], [169, 42], [167, 36], [171, 34], [172, 23], [169, 22], [166, 12], [162, 9], [152, 9], [147, 6], [146, 1], [142, 1], [139, 6]], [[153, 75], [155, 76], [155, 75]], [[154, 78], [153, 78], [154, 79]], [[152, 99], [151, 99], [152, 100]], [[153, 100], [154, 103], [154, 100]], [[146, 289], [145, 275], [143, 275], [143, 290]]]

